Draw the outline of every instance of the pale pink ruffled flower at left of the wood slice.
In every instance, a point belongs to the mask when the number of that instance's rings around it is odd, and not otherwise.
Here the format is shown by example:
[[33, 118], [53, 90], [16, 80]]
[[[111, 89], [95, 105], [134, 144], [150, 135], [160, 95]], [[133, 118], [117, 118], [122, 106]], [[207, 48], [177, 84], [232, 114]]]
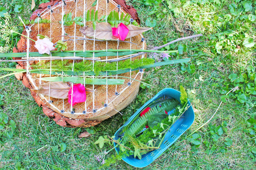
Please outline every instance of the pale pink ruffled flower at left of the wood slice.
[[39, 39], [39, 37], [37, 37], [36, 40], [36, 45], [35, 45], [36, 49], [38, 50], [39, 54], [50, 54], [50, 51], [54, 49], [53, 47], [53, 43], [50, 41], [49, 38], [44, 38], [43, 40]]

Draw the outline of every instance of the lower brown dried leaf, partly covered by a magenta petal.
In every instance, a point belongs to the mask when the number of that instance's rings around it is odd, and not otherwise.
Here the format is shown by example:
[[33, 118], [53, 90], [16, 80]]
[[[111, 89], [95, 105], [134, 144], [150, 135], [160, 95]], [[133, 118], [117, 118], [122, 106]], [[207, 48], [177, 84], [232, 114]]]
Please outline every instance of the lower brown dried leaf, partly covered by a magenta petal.
[[[49, 84], [44, 83], [39, 85], [38, 90], [33, 90], [32, 91], [40, 94], [44, 94], [49, 96]], [[70, 86], [62, 81], [59, 82], [51, 82], [51, 90], [50, 90], [50, 97], [56, 98], [56, 99], [68, 99], [68, 91], [70, 89]], [[92, 89], [85, 88], [85, 93], [91, 93], [94, 92]]]

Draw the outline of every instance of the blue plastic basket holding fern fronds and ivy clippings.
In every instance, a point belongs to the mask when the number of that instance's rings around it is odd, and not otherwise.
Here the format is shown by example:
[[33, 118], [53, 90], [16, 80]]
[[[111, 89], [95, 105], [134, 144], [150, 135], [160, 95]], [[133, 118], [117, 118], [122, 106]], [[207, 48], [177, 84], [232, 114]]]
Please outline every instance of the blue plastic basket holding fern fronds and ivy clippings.
[[[135, 112], [129, 119], [127, 122], [124, 123], [124, 125], [119, 128], [116, 133], [115, 133], [115, 139], [119, 139], [120, 137], [122, 137], [120, 134], [120, 132], [122, 131], [122, 129], [132, 121], [132, 119], [140, 114], [140, 112], [142, 110], [144, 110], [151, 102], [159, 99], [159, 97], [163, 97], [164, 99], [176, 99], [178, 101], [180, 101], [180, 92], [177, 90], [174, 90], [172, 88], [165, 88], [163, 90], [161, 90], [160, 92], [158, 92], [152, 99], [148, 100], [148, 102], [146, 102], [142, 107], [140, 107], [139, 110], [137, 110], [137, 112]], [[190, 105], [190, 102], [188, 101], [188, 104]], [[170, 114], [172, 112], [168, 112], [168, 114]], [[195, 119], [195, 114], [193, 111], [192, 106], [190, 106], [188, 108], [188, 110], [185, 111], [185, 113], [183, 115], [181, 115], [181, 117], [172, 125], [172, 127], [170, 128], [170, 130], [166, 133], [165, 137], [164, 137], [164, 142], [161, 144], [160, 148], [151, 152], [148, 152], [144, 155], [142, 155], [141, 159], [137, 159], [134, 158], [133, 155], [130, 155], [129, 157], [125, 157], [123, 158], [123, 160], [135, 167], [145, 167], [148, 166], [149, 164], [151, 164], [155, 159], [157, 159], [159, 156], [161, 156], [164, 151], [170, 147], [194, 122]], [[114, 143], [114, 146], [116, 146], [116, 143]], [[115, 148], [116, 152], [119, 152], [119, 147]]]

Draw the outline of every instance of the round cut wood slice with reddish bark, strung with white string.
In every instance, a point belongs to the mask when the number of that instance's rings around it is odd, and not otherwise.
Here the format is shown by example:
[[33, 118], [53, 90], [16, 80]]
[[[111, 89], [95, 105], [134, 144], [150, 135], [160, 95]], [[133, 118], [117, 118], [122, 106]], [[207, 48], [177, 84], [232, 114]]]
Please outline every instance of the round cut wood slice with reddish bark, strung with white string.
[[[94, 0], [88, 0], [86, 2], [87, 9], [91, 11], [92, 9], [96, 9], [96, 7], [92, 7], [92, 3]], [[61, 4], [61, 0], [53, 0], [49, 3], [44, 3], [39, 5], [39, 9], [34, 11], [30, 19], [35, 19], [37, 17], [37, 13], [41, 13], [42, 18], [50, 19], [50, 13], [49, 10], [47, 10], [47, 6], [51, 5], [52, 8], [58, 6]], [[65, 13], [72, 13], [72, 17], [75, 17], [75, 11], [76, 16], [83, 16], [84, 11], [84, 1], [77, 0], [77, 11], [75, 10], [75, 1], [66, 1], [66, 4], [64, 6]], [[140, 19], [138, 18], [138, 13], [136, 10], [132, 7], [126, 4], [124, 0], [109, 0], [108, 3], [108, 14], [116, 10], [116, 5], [120, 4], [121, 8], [120, 11], [124, 11], [124, 13], [129, 13], [133, 19], [135, 19], [138, 23], [140, 23]], [[99, 18], [102, 15], [106, 15], [106, 1], [99, 1]], [[86, 9], [86, 11], [87, 11]], [[44, 12], [43, 12], [44, 11]], [[59, 7], [56, 7], [53, 10], [52, 13], [52, 35], [50, 35], [50, 24], [39, 24], [39, 33], [42, 35], [47, 35], [48, 37], [52, 37], [52, 42], [55, 43], [59, 40], [61, 40], [61, 25], [58, 23], [58, 21], [61, 20], [61, 11], [62, 11], [62, 5], [59, 5]], [[42, 13], [43, 12], [43, 13]], [[48, 13], [46, 13], [48, 12]], [[104, 13], [105, 12], [105, 13]], [[44, 15], [44, 13], [46, 13]], [[92, 23], [87, 22], [86, 25], [91, 26]], [[31, 26], [31, 32], [30, 32], [30, 38], [36, 40], [36, 35], [38, 34], [38, 25], [37, 23]], [[72, 26], [64, 26], [65, 34], [69, 36], [74, 36], [75, 32], [75, 24]], [[76, 36], [83, 36], [83, 34], [79, 31], [79, 28], [81, 26], [76, 25]], [[27, 35], [27, 32], [24, 30], [24, 35]], [[146, 49], [146, 43], [141, 42], [141, 35], [132, 37], [132, 42], [135, 44], [132, 44], [132, 49]], [[69, 39], [68, 37], [64, 37], [64, 39]], [[37, 49], [34, 47], [35, 43], [30, 41], [30, 48], [29, 52], [36, 52]], [[119, 42], [118, 49], [130, 49], [130, 43], [125, 42]], [[18, 49], [13, 48], [13, 52], [27, 52], [27, 38], [21, 37], [20, 41], [17, 44]], [[143, 47], [144, 46], [144, 47]], [[74, 49], [74, 41], [68, 41], [68, 50]], [[76, 41], [76, 50], [83, 50], [84, 49], [84, 41], [79, 40]], [[102, 50], [106, 49], [106, 41], [96, 41], [95, 42], [95, 50]], [[117, 42], [116, 41], [108, 41], [108, 49], [117, 49]], [[93, 41], [86, 41], [85, 44], [85, 50], [93, 50]], [[136, 58], [140, 58], [141, 56], [134, 57], [132, 60]], [[116, 58], [116, 56], [108, 56], [109, 58]], [[13, 59], [21, 59], [21, 58], [13, 58]], [[106, 57], [101, 57], [101, 59], [106, 59]], [[29, 64], [37, 63], [38, 61], [30, 61]], [[26, 62], [18, 62], [18, 65], [16, 68], [19, 69], [26, 69]], [[132, 71], [132, 78], [135, 78], [136, 80], [140, 80], [141, 73], [137, 75], [138, 71]], [[137, 75], [137, 77], [136, 77]], [[127, 87], [127, 83], [130, 82], [130, 79], [124, 78], [124, 84], [123, 85], [108, 85], [108, 100], [107, 94], [106, 94], [106, 85], [94, 85], [94, 95], [95, 95], [95, 109], [101, 109], [100, 111], [97, 111], [96, 113], [92, 113], [93, 110], [93, 94], [89, 93], [86, 96], [86, 107], [87, 112], [86, 114], [82, 115], [72, 115], [70, 113], [71, 106], [68, 103], [68, 99], [57, 99], [50, 97], [50, 100], [53, 101], [53, 103], [48, 102], [48, 96], [42, 95], [37, 93], [35, 90], [38, 90], [38, 87], [40, 86], [39, 77], [49, 77], [49, 75], [39, 75], [39, 74], [29, 74], [26, 73], [20, 73], [15, 74], [15, 77], [18, 80], [21, 80], [22, 83], [30, 89], [31, 95], [35, 99], [36, 103], [43, 107], [43, 112], [45, 115], [47, 115], [49, 118], [53, 119], [57, 124], [60, 126], [67, 126], [67, 127], [90, 127], [95, 126], [96, 124], [100, 123], [102, 120], [105, 120], [109, 118], [112, 115], [115, 115], [117, 111], [121, 111], [125, 107], [127, 107], [136, 97], [140, 83], [138, 81], [133, 81], [132, 85], [129, 86], [126, 90], [124, 88]], [[130, 72], [121, 74], [120, 76], [130, 77]], [[42, 84], [47, 83], [45, 81], [42, 81]], [[86, 88], [93, 89], [92, 85], [86, 85]], [[115, 95], [115, 92], [122, 92], [118, 96]], [[63, 102], [64, 101], [64, 102]], [[105, 107], [102, 109], [103, 104], [108, 103], [108, 107]], [[60, 113], [60, 110], [62, 110], [64, 107], [65, 112]], [[82, 113], [85, 110], [85, 103], [78, 103], [74, 107], [76, 113]]]

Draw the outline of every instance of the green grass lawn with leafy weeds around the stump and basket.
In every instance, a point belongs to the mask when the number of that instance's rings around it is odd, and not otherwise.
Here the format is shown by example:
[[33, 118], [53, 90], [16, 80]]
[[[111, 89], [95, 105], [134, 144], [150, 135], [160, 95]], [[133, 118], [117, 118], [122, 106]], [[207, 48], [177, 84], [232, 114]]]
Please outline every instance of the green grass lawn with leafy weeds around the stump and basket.
[[[47, 1], [36, 1], [36, 7]], [[191, 58], [188, 64], [147, 69], [140, 92], [132, 104], [95, 127], [62, 128], [46, 117], [14, 76], [1, 79], [0, 93], [0, 168], [2, 169], [93, 169], [114, 154], [105, 144], [94, 142], [115, 131], [147, 100], [166, 87], [183, 85], [195, 110], [195, 122], [176, 144], [144, 169], [252, 169], [256, 160], [256, 85], [255, 2], [249, 0], [133, 0], [141, 26], [153, 27], [145, 32], [148, 48], [159, 46], [180, 36], [203, 33], [204, 37], [182, 41], [162, 50], [177, 49], [173, 59]], [[18, 25], [18, 15], [28, 19], [29, 1], [5, 1], [6, 11]], [[1, 19], [3, 22], [3, 20]], [[23, 28], [17, 27], [20, 33]], [[16, 46], [20, 35], [13, 34], [8, 51]], [[4, 47], [6, 40], [0, 40]], [[4, 50], [3, 48], [0, 48]], [[164, 58], [163, 60], [168, 60]], [[15, 63], [0, 63], [14, 68]], [[159, 71], [161, 70], [161, 75]], [[237, 87], [236, 91], [231, 89]], [[223, 102], [212, 120], [196, 133]], [[88, 138], [78, 138], [87, 130]], [[182, 141], [182, 142], [180, 142]], [[109, 169], [131, 169], [119, 160]], [[136, 169], [136, 168], [134, 168]]]

